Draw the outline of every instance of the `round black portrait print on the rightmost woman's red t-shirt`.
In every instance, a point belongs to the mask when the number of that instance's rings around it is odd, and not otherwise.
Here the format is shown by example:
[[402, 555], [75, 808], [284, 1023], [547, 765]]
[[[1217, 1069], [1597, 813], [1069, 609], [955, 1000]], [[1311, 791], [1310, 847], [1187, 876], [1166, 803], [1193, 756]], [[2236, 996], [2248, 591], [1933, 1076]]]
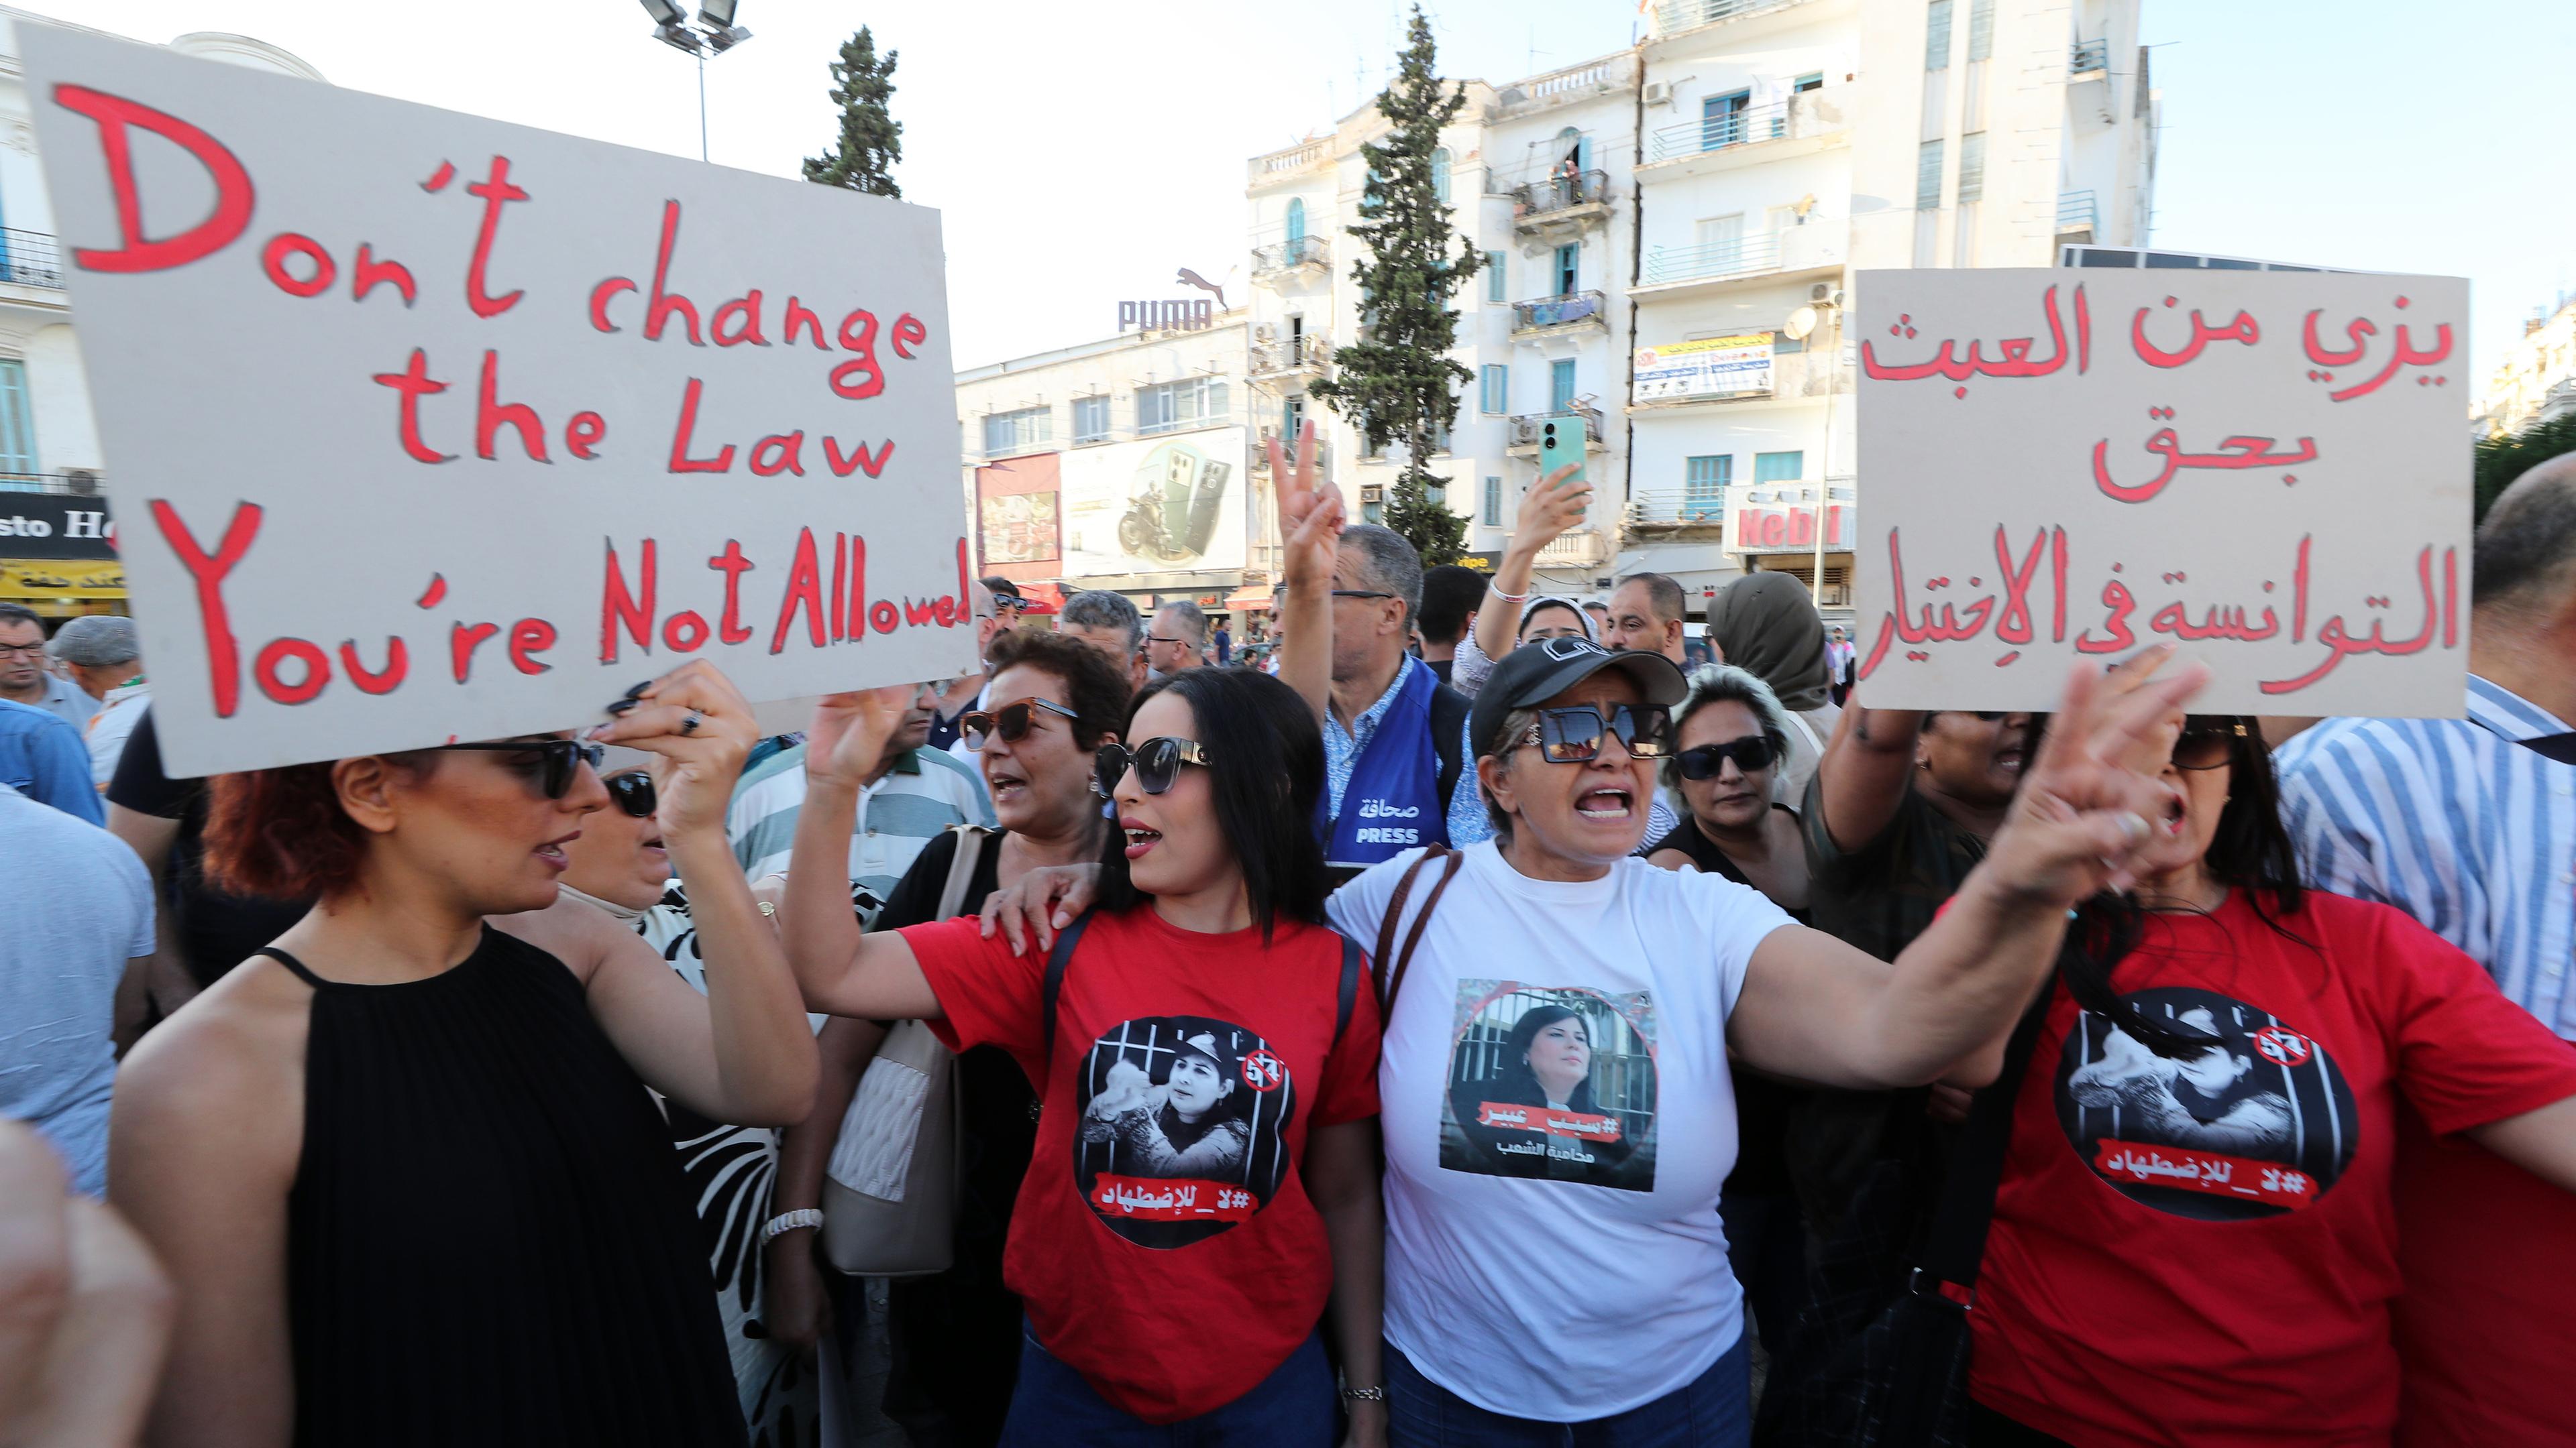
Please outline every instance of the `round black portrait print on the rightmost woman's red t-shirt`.
[[2141, 1015], [2215, 1036], [2164, 1059], [2084, 1013], [2058, 1051], [2058, 1121], [2076, 1154], [2143, 1206], [2202, 1221], [2303, 1211], [2360, 1144], [2344, 1072], [2277, 1015], [2195, 987], [2123, 997]]

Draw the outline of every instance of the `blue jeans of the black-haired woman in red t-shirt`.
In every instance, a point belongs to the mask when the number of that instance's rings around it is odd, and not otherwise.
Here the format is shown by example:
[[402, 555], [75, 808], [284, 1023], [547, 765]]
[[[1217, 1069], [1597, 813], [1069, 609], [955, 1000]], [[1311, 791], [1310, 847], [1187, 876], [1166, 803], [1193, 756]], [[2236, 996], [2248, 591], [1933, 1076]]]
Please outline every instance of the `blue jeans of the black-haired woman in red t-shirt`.
[[1023, 1332], [1020, 1389], [1002, 1420], [1002, 1448], [1332, 1448], [1334, 1409], [1332, 1368], [1316, 1335], [1226, 1407], [1154, 1425], [1100, 1396]]

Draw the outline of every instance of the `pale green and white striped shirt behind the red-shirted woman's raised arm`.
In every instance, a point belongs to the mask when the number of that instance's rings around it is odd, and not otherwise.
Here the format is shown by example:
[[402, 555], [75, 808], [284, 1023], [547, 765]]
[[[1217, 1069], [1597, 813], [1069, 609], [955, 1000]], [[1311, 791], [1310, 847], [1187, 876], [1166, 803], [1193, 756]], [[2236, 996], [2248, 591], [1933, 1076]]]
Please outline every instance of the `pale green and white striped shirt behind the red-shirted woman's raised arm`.
[[[896, 881], [912, 868], [914, 855], [943, 830], [994, 824], [992, 799], [987, 799], [976, 770], [945, 750], [925, 747], [940, 683], [914, 685], [902, 729], [886, 739], [886, 752], [878, 755], [876, 770], [858, 791], [858, 822], [850, 830], [850, 902], [858, 907], [860, 928], [876, 920]], [[742, 871], [755, 881], [788, 871], [796, 814], [804, 812], [806, 794], [804, 760], [806, 745], [796, 745], [752, 765], [734, 786], [724, 832], [734, 840]]]

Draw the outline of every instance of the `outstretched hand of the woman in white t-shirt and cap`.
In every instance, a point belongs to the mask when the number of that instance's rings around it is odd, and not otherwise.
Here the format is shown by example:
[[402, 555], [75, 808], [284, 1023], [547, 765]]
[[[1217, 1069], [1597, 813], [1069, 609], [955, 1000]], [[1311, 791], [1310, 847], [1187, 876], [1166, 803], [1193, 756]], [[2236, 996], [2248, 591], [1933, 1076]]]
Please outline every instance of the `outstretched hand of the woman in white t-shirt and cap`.
[[2174, 716], [2210, 678], [2202, 665], [2151, 678], [2166, 657], [2156, 654], [2120, 688], [2089, 665], [2066, 678], [2040, 757], [1986, 850], [1991, 884], [2063, 910], [2099, 889], [2128, 889], [2156, 868], [2151, 845], [2166, 835], [2174, 799], [2161, 778]]

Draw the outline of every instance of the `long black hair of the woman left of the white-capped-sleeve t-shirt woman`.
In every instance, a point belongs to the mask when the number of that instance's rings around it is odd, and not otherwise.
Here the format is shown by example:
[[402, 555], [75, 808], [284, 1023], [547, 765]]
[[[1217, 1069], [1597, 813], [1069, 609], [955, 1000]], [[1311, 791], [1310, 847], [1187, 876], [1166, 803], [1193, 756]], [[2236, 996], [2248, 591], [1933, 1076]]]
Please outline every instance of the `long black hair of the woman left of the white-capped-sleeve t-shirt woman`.
[[[1157, 693], [1177, 693], [1198, 724], [1198, 742], [1208, 750], [1216, 830], [1234, 845], [1262, 940], [1270, 940], [1283, 915], [1321, 925], [1329, 881], [1324, 845], [1314, 837], [1314, 801], [1324, 794], [1324, 729], [1314, 709], [1265, 672], [1180, 670], [1136, 696], [1121, 734], [1131, 745], [1141, 742], [1136, 711]], [[1126, 835], [1118, 830], [1108, 832], [1100, 858], [1097, 899], [1100, 910], [1128, 910], [1146, 899], [1128, 876]]]

